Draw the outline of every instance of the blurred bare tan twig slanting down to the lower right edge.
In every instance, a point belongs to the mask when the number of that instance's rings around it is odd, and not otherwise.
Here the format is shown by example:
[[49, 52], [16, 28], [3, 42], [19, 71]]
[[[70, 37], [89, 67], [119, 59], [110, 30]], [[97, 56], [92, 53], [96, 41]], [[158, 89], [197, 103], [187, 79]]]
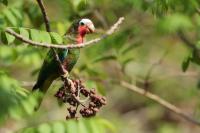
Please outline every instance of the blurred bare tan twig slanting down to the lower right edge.
[[184, 118], [185, 120], [191, 122], [192, 124], [195, 124], [197, 126], [200, 126], [200, 122], [191, 118], [190, 116], [188, 116], [187, 114], [185, 114], [180, 108], [176, 107], [175, 105], [169, 103], [168, 101], [162, 99], [161, 97], [153, 94], [153, 93], [150, 93], [148, 91], [145, 91], [144, 89], [142, 88], [139, 88], [133, 84], [129, 84], [127, 83], [126, 81], [121, 81], [120, 82], [120, 85], [122, 87], [125, 87], [131, 91], [134, 91], [142, 96], [145, 96], [157, 103], [159, 103], [160, 105], [162, 105], [163, 107], [169, 109], [170, 111], [176, 113], [177, 115], [181, 116], [182, 118]]

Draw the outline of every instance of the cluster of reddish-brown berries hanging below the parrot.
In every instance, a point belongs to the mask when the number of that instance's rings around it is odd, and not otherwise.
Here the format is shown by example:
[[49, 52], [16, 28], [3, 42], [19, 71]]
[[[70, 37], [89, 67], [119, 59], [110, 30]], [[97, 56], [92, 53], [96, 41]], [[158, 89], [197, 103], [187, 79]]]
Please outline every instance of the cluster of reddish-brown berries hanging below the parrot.
[[[67, 109], [69, 113], [69, 116], [66, 117], [67, 119], [76, 118], [78, 111], [82, 117], [95, 116], [100, 108], [106, 105], [106, 98], [98, 95], [95, 89], [86, 89], [81, 80], [71, 80], [67, 85], [61, 87], [55, 96], [70, 105]], [[83, 97], [85, 99], [80, 100]], [[79, 109], [80, 105], [81, 108]]]

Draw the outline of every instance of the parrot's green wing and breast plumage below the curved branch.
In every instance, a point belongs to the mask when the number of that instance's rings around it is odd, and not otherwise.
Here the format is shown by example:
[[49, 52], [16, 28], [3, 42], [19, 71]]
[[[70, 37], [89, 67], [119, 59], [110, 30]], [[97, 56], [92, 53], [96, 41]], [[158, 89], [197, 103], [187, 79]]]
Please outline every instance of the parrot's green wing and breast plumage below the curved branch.
[[[60, 61], [64, 65], [65, 69], [70, 72], [74, 65], [76, 64], [78, 58], [79, 58], [79, 49], [73, 49], [73, 50], [56, 50]], [[47, 56], [44, 60], [43, 66], [40, 70], [39, 77], [37, 80], [37, 83], [33, 87], [33, 90], [39, 89], [42, 93], [45, 93], [47, 89], [50, 87], [52, 82], [59, 77], [60, 71], [59, 71], [58, 62], [55, 60], [53, 56], [53, 51], [50, 50], [47, 53]], [[42, 100], [42, 99], [41, 99]], [[40, 104], [41, 101], [39, 101]], [[38, 105], [39, 107], [39, 105]]]

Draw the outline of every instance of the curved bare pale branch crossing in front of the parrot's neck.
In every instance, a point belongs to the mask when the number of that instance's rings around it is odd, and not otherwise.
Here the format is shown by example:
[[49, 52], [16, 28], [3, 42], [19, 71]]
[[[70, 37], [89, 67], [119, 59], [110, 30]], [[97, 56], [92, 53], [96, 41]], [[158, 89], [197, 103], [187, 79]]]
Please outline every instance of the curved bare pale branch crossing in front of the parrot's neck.
[[25, 42], [29, 45], [34, 45], [34, 46], [40, 46], [40, 47], [46, 47], [46, 48], [58, 48], [58, 49], [77, 49], [77, 48], [83, 48], [89, 45], [94, 45], [97, 42], [101, 41], [102, 39], [106, 38], [107, 36], [113, 34], [116, 29], [119, 27], [119, 25], [123, 22], [124, 17], [119, 18], [119, 20], [101, 37], [93, 39], [91, 41], [85, 42], [85, 43], [81, 43], [81, 44], [51, 44], [51, 43], [40, 43], [40, 42], [34, 42], [28, 38], [25, 38], [23, 36], [21, 36], [20, 34], [14, 32], [12, 29], [7, 28], [5, 30], [5, 32], [7, 32], [10, 35], [15, 36], [18, 40]]

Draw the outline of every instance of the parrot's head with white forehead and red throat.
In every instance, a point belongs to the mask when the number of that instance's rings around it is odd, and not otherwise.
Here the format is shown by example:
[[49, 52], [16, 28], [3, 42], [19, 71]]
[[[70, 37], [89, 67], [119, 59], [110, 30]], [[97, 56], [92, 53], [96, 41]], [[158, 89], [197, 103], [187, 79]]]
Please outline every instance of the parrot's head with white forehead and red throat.
[[94, 24], [90, 19], [83, 18], [75, 20], [68, 30], [68, 34], [76, 35], [78, 43], [83, 43], [83, 38], [86, 34], [93, 33], [95, 30]]

